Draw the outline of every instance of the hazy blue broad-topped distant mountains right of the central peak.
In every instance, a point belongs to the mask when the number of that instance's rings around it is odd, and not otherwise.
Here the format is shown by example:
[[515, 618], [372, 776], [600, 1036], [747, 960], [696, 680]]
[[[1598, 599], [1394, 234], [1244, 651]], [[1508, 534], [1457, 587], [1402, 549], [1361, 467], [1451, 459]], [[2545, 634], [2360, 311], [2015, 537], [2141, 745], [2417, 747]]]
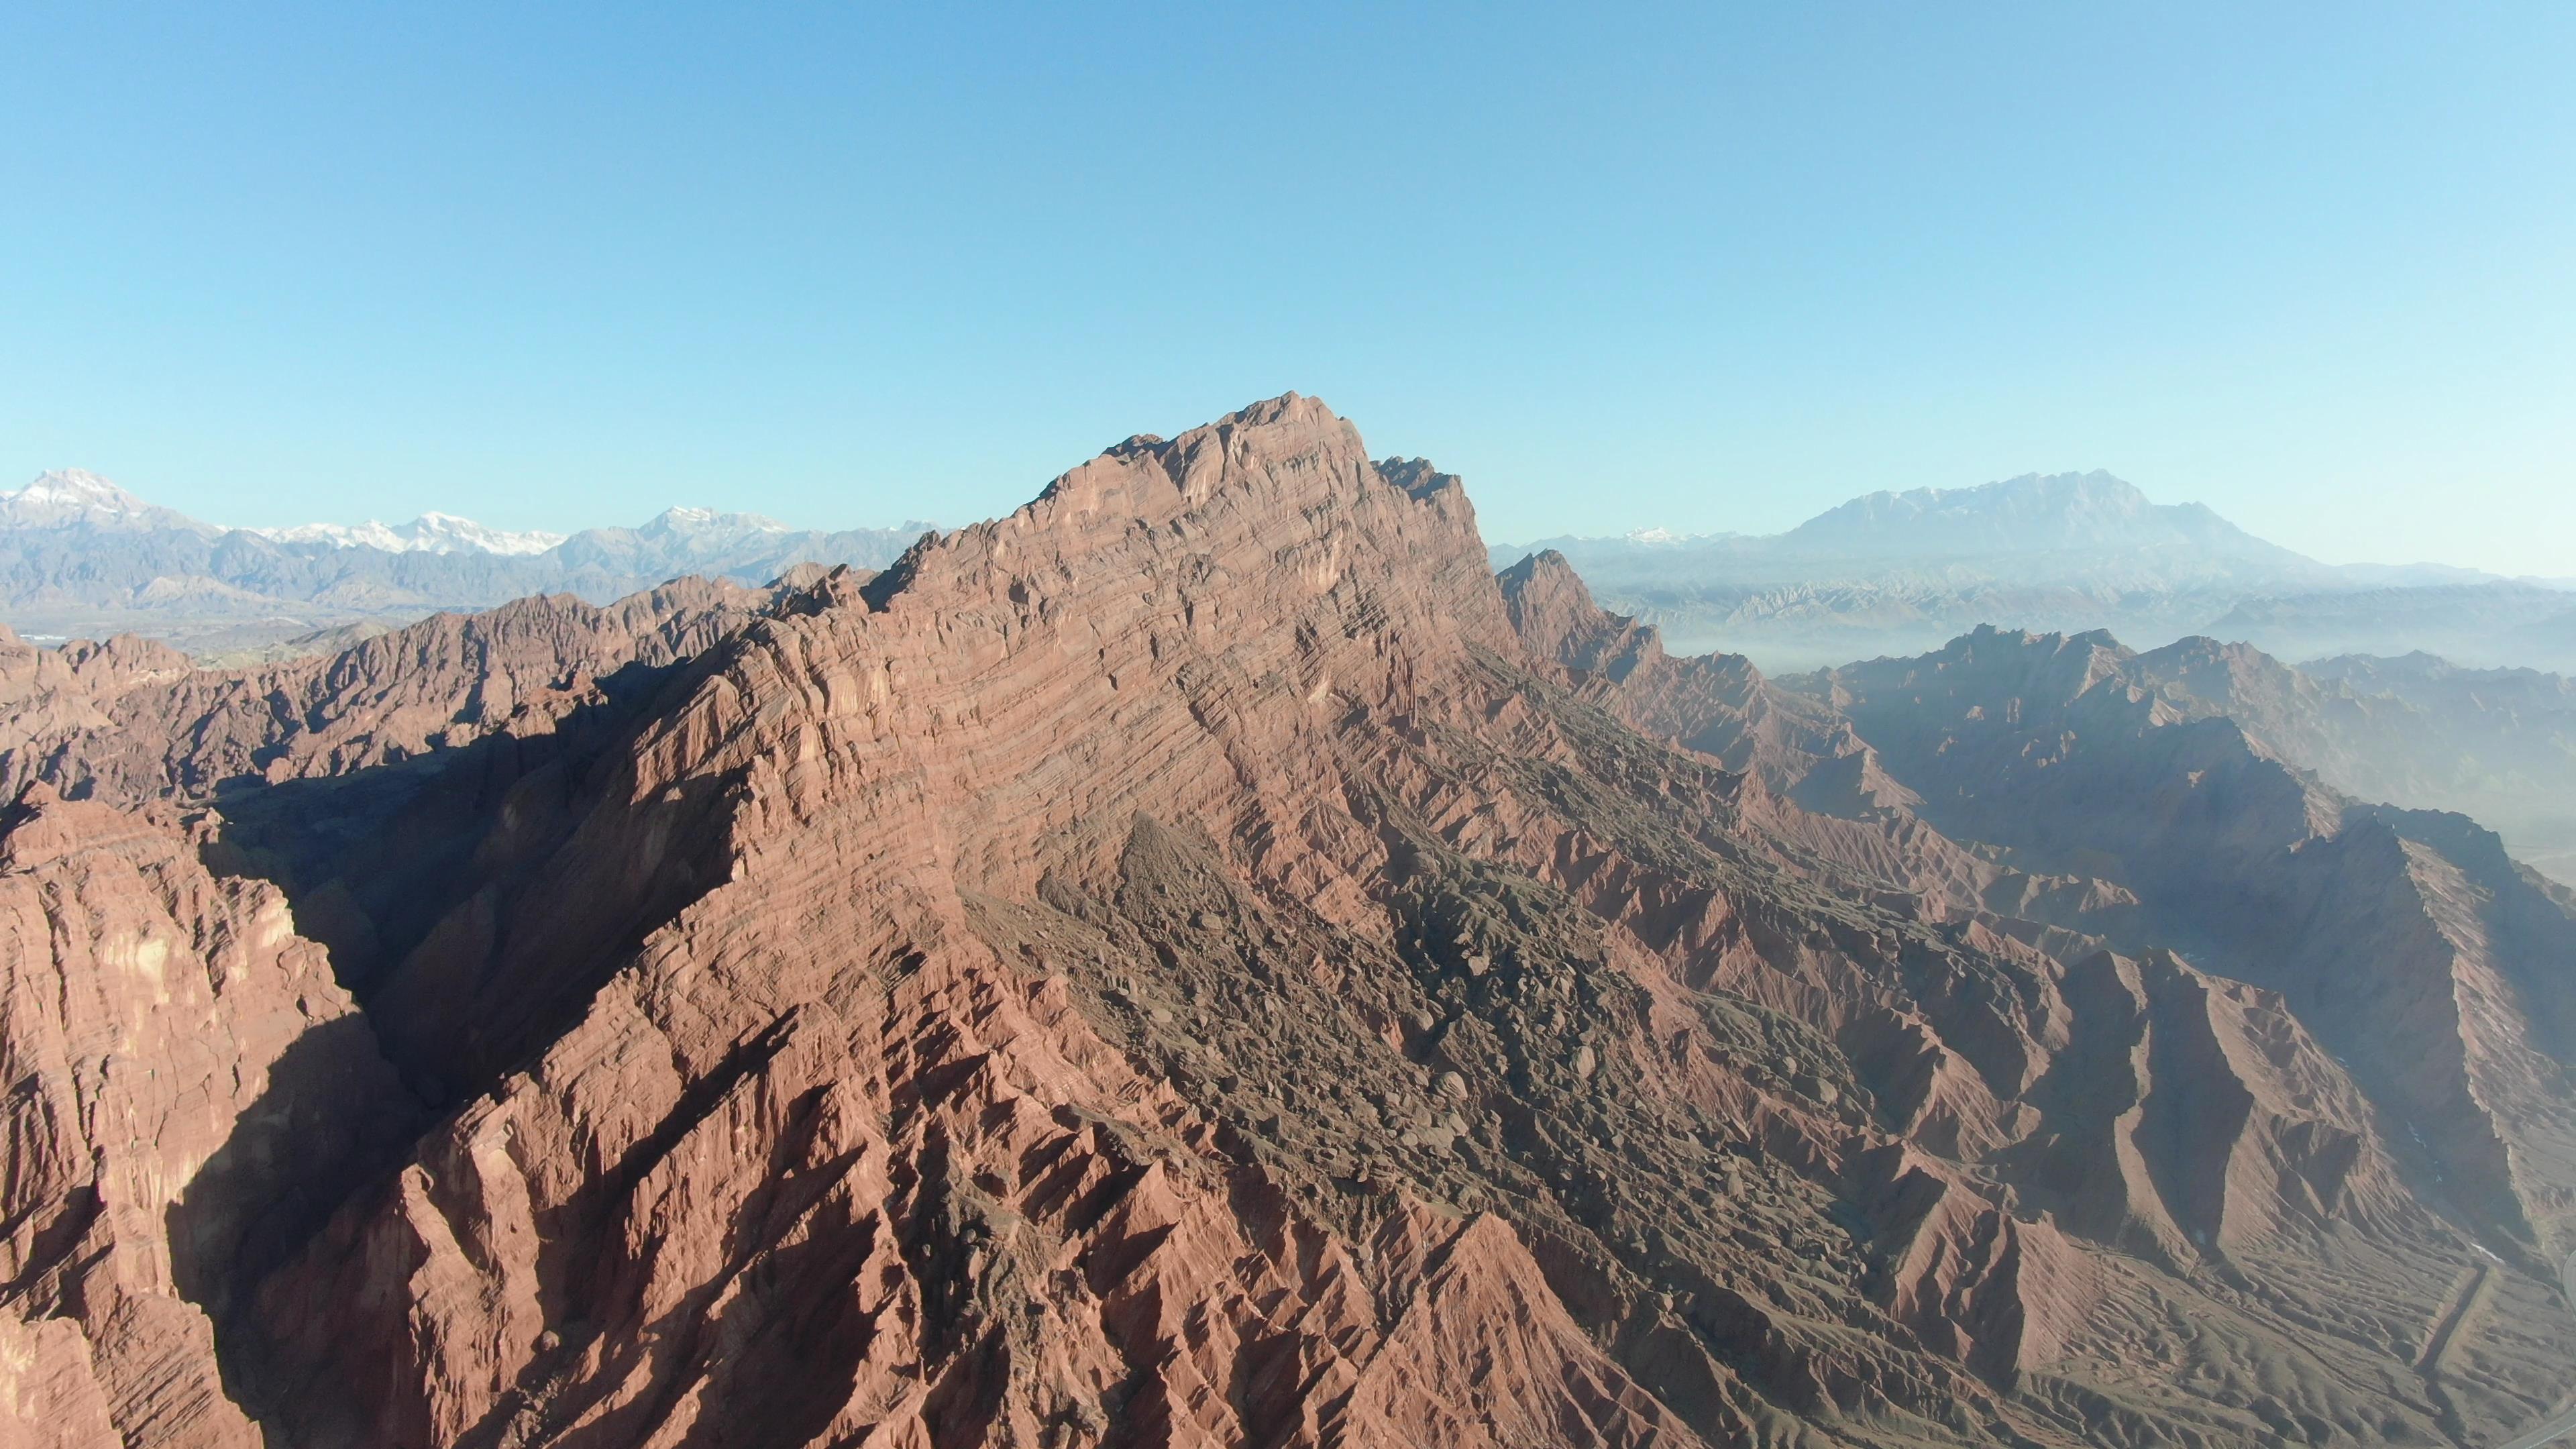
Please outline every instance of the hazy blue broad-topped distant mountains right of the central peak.
[[1870, 492], [1767, 536], [1643, 531], [1492, 549], [1561, 552], [1602, 603], [1682, 650], [1772, 670], [1914, 655], [1978, 624], [2218, 634], [2282, 657], [2434, 650], [2576, 668], [2576, 593], [2445, 565], [2324, 565], [2200, 503], [2107, 472]]

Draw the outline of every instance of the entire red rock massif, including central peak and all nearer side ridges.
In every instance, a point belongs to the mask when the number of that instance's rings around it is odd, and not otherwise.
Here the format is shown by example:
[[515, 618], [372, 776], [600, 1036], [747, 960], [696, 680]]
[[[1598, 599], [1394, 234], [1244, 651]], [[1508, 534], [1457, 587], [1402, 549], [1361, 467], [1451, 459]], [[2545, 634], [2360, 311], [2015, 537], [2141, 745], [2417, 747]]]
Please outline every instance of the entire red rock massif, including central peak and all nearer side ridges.
[[[2568, 902], [2094, 645], [1672, 660], [1301, 397], [732, 629], [526, 608], [21, 712], [100, 799], [0, 874], [64, 1083], [13, 1150], [88, 1163], [8, 1178], [28, 1434], [2450, 1444], [2563, 1390]], [[185, 1132], [95, 1127], [178, 1062]]]

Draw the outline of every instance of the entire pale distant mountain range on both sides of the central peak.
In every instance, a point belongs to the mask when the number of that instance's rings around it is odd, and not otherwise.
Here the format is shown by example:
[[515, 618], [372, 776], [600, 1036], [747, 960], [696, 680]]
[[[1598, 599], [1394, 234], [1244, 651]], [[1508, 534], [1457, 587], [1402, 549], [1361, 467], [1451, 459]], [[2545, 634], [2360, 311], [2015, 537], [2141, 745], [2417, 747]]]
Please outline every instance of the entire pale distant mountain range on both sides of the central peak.
[[[67, 469], [0, 492], [0, 621], [33, 639], [134, 632], [209, 657], [281, 657], [531, 593], [603, 603], [677, 575], [760, 585], [796, 565], [873, 570], [925, 531], [814, 531], [708, 508], [569, 536], [451, 513], [227, 529]], [[1502, 570], [1540, 549], [1677, 650], [1741, 652], [1767, 670], [1917, 655], [1996, 624], [2110, 629], [2141, 647], [2210, 634], [2285, 660], [2427, 650], [2576, 673], [2576, 590], [2563, 580], [2324, 565], [2107, 472], [1870, 492], [1767, 536], [1561, 536], [1489, 557]]]

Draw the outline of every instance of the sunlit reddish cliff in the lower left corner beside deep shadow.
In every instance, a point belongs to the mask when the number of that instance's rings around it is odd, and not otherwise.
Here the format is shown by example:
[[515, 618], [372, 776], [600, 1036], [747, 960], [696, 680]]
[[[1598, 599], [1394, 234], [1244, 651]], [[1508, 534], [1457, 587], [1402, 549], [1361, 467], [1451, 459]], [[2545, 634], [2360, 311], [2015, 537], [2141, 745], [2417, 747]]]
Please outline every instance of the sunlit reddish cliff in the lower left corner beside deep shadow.
[[28, 792], [0, 835], [0, 1439], [258, 1446], [209, 1312], [402, 1129], [286, 900], [167, 822]]

